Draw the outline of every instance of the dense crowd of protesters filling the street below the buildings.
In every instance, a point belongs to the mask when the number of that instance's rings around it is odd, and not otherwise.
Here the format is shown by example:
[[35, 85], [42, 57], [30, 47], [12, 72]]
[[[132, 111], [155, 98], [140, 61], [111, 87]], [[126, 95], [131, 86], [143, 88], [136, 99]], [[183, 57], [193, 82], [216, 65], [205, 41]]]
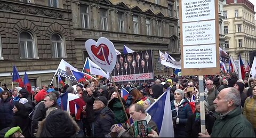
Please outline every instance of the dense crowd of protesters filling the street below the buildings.
[[[133, 137], [134, 128], [128, 123], [130, 118], [133, 121], [147, 120], [153, 129], [149, 136], [155, 137], [159, 134], [157, 126], [145, 110], [170, 90], [175, 137], [255, 137], [256, 78], [238, 79], [233, 72], [204, 76], [203, 82], [206, 134], [200, 133], [198, 76], [172, 74], [155, 76], [155, 82], [113, 84], [106, 80], [88, 80], [65, 86], [33, 86], [34, 93], [22, 87], [9, 90], [3, 84], [0, 136]], [[122, 87], [130, 93], [125, 100], [119, 97]], [[65, 111], [62, 97], [66, 93], [70, 99], [79, 97], [76, 102], [82, 110]], [[77, 112], [80, 118], [76, 117]], [[236, 118], [236, 123], [228, 123], [231, 118]]]

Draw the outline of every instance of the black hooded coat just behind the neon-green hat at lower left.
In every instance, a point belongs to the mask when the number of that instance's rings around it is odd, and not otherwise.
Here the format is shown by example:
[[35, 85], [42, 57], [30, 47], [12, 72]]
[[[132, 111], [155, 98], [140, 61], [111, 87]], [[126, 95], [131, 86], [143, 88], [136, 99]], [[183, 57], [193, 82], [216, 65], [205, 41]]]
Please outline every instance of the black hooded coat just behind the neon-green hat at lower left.
[[25, 137], [31, 137], [31, 133], [30, 133], [31, 132], [30, 131], [31, 130], [30, 129], [31, 120], [28, 117], [28, 114], [29, 114], [28, 111], [26, 110], [25, 106], [23, 105], [22, 107], [20, 107], [20, 109], [18, 109], [17, 112], [14, 113], [13, 121], [11, 124], [12, 127], [19, 126], [20, 129], [22, 130], [22, 134]]

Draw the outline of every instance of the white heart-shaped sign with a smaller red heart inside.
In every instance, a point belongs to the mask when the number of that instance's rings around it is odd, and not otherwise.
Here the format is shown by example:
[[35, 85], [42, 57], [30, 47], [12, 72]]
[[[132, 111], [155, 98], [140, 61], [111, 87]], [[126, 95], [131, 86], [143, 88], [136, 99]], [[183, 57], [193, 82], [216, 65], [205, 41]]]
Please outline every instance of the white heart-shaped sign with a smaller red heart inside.
[[93, 39], [86, 40], [85, 48], [91, 60], [102, 69], [111, 72], [116, 65], [116, 51], [114, 44], [105, 37], [100, 37], [97, 42]]

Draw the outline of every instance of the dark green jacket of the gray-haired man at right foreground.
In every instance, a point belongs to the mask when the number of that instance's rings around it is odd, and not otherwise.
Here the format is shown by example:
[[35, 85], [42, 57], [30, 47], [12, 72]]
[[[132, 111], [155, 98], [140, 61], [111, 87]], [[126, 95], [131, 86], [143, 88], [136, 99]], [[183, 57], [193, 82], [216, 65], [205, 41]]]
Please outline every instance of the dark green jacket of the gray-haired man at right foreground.
[[242, 115], [241, 107], [216, 117], [211, 137], [255, 137], [252, 124]]

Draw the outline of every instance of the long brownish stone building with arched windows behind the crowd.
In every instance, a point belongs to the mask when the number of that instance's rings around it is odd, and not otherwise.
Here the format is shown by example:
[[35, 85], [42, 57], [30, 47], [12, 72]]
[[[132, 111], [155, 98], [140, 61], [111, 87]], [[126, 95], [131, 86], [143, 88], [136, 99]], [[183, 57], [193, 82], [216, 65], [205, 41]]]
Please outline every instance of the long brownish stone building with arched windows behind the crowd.
[[82, 70], [85, 41], [100, 37], [120, 52], [123, 45], [153, 50], [155, 75], [163, 75], [158, 50], [180, 58], [174, 7], [162, 0], [0, 0], [0, 82], [11, 87], [15, 65], [31, 85], [49, 85], [61, 59]]

